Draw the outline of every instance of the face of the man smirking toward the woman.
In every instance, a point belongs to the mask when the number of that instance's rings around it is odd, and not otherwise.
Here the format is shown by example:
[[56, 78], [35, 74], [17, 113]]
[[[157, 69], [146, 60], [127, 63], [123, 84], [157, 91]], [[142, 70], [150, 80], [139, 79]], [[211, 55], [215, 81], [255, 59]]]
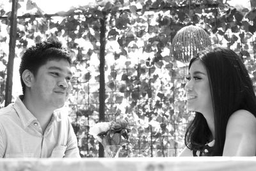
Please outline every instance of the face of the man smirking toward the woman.
[[71, 90], [72, 73], [68, 61], [47, 61], [38, 68], [35, 79], [31, 84], [33, 99], [41, 107], [57, 109], [63, 107]]

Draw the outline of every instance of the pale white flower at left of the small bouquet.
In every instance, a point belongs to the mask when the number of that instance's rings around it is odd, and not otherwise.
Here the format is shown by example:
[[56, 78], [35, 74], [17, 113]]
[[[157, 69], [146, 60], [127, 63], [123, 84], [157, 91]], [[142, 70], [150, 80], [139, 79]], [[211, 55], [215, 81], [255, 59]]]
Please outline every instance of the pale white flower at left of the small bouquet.
[[92, 128], [90, 128], [89, 134], [92, 135], [99, 142], [102, 142], [102, 138], [100, 138], [98, 134], [108, 131], [110, 129], [110, 126], [111, 123], [109, 122], [97, 123], [94, 126], [92, 126]]

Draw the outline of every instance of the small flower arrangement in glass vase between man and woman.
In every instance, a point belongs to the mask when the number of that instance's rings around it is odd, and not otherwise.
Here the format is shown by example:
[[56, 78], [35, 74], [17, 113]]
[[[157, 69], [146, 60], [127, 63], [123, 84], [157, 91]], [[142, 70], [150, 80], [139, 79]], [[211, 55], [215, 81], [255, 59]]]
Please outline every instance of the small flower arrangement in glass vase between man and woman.
[[120, 147], [128, 142], [130, 131], [128, 122], [123, 119], [97, 123], [90, 128], [89, 134], [93, 135], [103, 145], [107, 156], [116, 157]]

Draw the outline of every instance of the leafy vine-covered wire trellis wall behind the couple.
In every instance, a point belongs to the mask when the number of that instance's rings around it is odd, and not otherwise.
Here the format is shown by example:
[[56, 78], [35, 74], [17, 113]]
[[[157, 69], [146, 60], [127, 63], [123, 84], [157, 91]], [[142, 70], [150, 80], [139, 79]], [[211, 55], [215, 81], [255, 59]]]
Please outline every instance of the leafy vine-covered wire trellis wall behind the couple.
[[[8, 52], [10, 11], [0, 10], [0, 102]], [[125, 117], [130, 144], [123, 156], [175, 156], [183, 147], [186, 124], [186, 63], [172, 56], [172, 39], [180, 28], [195, 24], [209, 33], [212, 45], [240, 54], [255, 82], [255, 10], [232, 8], [221, 0], [97, 1], [67, 12], [44, 14], [35, 3], [20, 1], [28, 13], [18, 18], [16, 58], [44, 40], [59, 40], [72, 52], [73, 90], [70, 117], [84, 157], [97, 156], [99, 144], [88, 129], [99, 121], [100, 29], [106, 24], [104, 68], [106, 120]], [[17, 96], [18, 94], [13, 94]]]

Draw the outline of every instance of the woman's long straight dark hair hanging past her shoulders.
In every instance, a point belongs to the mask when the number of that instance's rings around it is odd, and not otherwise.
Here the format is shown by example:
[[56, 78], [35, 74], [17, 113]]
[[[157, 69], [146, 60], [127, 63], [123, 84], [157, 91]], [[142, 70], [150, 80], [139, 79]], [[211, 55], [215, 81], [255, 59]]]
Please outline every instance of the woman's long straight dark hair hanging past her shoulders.
[[[215, 144], [210, 155], [222, 156], [230, 115], [236, 110], [244, 109], [256, 117], [252, 80], [239, 56], [228, 48], [216, 47], [199, 52], [191, 59], [189, 68], [195, 60], [201, 60], [204, 64], [211, 89]], [[204, 116], [196, 112], [185, 134], [186, 146], [193, 151], [202, 151], [211, 138]]]

